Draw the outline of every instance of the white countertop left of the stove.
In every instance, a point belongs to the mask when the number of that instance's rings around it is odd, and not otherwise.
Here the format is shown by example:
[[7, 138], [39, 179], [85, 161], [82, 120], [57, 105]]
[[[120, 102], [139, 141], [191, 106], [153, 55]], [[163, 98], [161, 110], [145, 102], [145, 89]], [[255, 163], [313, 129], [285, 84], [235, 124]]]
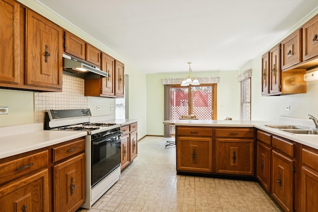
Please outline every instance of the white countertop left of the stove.
[[0, 159], [87, 135], [84, 131], [43, 130], [43, 123], [0, 127]]

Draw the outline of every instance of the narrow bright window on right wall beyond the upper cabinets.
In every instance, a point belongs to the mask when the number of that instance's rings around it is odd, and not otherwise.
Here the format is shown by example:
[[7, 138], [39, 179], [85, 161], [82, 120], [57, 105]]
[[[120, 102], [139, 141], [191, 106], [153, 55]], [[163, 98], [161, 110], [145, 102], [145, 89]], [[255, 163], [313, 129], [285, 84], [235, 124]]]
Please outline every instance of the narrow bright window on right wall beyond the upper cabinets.
[[240, 120], [250, 120], [251, 78], [240, 81]]

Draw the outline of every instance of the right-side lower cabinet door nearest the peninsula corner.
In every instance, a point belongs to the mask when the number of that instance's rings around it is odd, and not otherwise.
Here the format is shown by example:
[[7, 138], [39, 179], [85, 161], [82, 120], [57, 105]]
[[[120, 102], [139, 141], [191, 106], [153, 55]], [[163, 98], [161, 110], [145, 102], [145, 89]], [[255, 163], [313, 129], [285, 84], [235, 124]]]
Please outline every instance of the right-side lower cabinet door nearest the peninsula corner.
[[257, 142], [256, 178], [270, 193], [270, 153], [271, 149]]

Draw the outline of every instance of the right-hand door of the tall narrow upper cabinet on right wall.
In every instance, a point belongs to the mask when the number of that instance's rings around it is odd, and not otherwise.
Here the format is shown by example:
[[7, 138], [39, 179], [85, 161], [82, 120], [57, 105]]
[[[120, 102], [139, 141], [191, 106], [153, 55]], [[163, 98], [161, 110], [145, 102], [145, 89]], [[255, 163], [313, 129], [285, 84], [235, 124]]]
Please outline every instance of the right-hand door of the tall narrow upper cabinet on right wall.
[[269, 93], [281, 91], [280, 44], [269, 51]]

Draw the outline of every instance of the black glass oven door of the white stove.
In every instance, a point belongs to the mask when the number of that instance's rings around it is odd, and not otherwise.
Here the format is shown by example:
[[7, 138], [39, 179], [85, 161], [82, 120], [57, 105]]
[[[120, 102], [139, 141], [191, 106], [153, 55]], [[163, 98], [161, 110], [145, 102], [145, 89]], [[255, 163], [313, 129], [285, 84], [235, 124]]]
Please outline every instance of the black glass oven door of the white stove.
[[91, 142], [91, 187], [120, 166], [120, 136], [112, 134]]

